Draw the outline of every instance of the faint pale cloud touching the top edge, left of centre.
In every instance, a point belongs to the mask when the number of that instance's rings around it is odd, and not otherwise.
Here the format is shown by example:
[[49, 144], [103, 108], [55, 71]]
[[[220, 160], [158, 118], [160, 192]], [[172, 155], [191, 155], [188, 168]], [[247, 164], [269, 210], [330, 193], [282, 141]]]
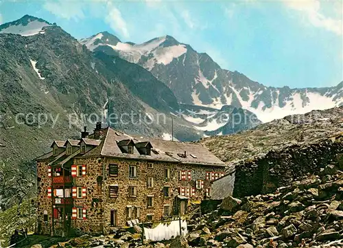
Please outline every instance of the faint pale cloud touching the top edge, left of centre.
[[72, 1], [47, 1], [44, 3], [43, 8], [63, 19], [78, 19], [84, 18], [84, 12], [82, 10], [82, 2]]

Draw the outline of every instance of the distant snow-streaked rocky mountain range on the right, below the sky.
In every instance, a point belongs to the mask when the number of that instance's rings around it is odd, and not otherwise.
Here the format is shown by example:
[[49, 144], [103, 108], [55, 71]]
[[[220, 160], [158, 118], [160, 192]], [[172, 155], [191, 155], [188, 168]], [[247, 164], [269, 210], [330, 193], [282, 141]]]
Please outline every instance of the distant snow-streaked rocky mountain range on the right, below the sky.
[[265, 87], [238, 71], [222, 69], [208, 54], [198, 53], [171, 36], [134, 44], [122, 43], [116, 36], [102, 32], [80, 43], [91, 51], [116, 54], [141, 65], [167, 84], [182, 104], [214, 109], [233, 105], [269, 122], [292, 113], [331, 109], [343, 102], [343, 82], [327, 88]]

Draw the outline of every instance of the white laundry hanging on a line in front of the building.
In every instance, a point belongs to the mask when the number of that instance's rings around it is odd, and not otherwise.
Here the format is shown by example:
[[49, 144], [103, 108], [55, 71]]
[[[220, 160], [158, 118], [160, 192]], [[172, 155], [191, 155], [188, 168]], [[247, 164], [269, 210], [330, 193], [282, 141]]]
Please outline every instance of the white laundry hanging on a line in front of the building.
[[[181, 220], [182, 235], [188, 234], [187, 221]], [[155, 228], [144, 227], [145, 239], [152, 241], [169, 240], [180, 235], [180, 223], [178, 220], [167, 223], [160, 223]]]

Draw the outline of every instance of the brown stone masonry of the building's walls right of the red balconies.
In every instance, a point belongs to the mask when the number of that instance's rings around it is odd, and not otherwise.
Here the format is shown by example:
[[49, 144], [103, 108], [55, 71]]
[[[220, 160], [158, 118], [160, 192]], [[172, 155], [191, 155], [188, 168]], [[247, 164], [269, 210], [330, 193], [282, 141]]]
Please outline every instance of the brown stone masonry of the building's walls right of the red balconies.
[[[74, 164], [86, 164], [86, 177], [76, 177], [75, 186], [86, 187], [84, 199], [75, 199], [75, 207], [86, 207], [86, 220], [72, 221], [75, 229], [85, 233], [110, 232], [110, 211], [117, 210], [117, 225], [124, 226], [126, 221], [137, 218], [135, 209], [131, 218], [128, 218], [128, 206], [139, 207], [139, 221], [145, 221], [147, 214], [153, 214], [153, 221], [159, 221], [164, 215], [164, 206], [169, 205], [171, 214], [175, 214], [174, 201], [178, 195], [178, 187], [196, 188], [196, 179], [204, 180], [204, 189], [196, 190], [196, 196], [191, 199], [200, 201], [204, 198], [205, 189], [211, 187], [206, 181], [206, 172], [224, 171], [223, 167], [180, 165], [176, 163], [154, 161], [154, 168], [148, 168], [149, 161], [116, 158], [82, 158], [75, 159]], [[109, 176], [109, 164], [117, 164], [118, 176]], [[129, 166], [137, 166], [137, 177], [129, 177]], [[170, 169], [170, 179], [165, 179], [165, 168]], [[192, 170], [191, 181], [179, 181], [178, 170]], [[154, 178], [154, 187], [147, 188], [147, 177]], [[110, 185], [118, 185], [119, 192], [116, 198], [109, 197]], [[129, 195], [129, 187], [137, 187], [137, 196]], [[163, 187], [170, 187], [170, 196], [165, 197]], [[153, 207], [147, 207], [147, 196], [154, 196]], [[95, 203], [96, 200], [96, 203]]]

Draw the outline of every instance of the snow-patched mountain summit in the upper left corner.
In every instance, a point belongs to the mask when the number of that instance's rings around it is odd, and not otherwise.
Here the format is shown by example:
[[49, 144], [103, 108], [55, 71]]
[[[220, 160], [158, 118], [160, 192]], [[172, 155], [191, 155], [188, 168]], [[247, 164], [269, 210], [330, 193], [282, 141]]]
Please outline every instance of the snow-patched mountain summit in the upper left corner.
[[20, 34], [21, 36], [44, 34], [44, 27], [49, 25], [51, 23], [26, 14], [19, 20], [0, 25], [0, 34]]

